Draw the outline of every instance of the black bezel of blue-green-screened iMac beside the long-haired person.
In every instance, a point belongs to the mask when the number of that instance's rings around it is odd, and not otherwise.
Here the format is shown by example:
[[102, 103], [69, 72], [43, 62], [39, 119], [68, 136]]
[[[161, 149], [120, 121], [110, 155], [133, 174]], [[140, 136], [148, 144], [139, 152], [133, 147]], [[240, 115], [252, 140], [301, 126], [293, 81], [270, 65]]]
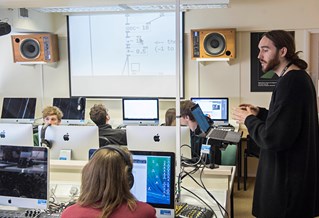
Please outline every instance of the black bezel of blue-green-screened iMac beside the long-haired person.
[[[175, 153], [173, 152], [164, 152], [164, 151], [135, 151], [130, 150], [132, 155], [143, 155], [143, 156], [158, 156], [158, 157], [170, 157], [171, 163], [170, 163], [170, 204], [157, 204], [157, 203], [151, 203], [146, 202], [150, 205], [152, 205], [155, 208], [164, 208], [164, 209], [174, 209], [175, 208], [175, 165], [176, 165], [176, 159], [175, 159]], [[132, 157], [133, 158], [133, 157]], [[133, 163], [133, 169], [134, 169], [134, 163]]]

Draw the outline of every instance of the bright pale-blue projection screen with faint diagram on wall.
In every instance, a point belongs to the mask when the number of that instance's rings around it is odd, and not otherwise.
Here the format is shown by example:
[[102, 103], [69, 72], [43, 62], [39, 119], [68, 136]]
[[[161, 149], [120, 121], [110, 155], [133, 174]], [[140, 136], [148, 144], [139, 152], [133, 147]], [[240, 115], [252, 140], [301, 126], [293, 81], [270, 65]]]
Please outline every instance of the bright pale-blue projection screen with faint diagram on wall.
[[73, 76], [175, 75], [175, 13], [69, 17]]

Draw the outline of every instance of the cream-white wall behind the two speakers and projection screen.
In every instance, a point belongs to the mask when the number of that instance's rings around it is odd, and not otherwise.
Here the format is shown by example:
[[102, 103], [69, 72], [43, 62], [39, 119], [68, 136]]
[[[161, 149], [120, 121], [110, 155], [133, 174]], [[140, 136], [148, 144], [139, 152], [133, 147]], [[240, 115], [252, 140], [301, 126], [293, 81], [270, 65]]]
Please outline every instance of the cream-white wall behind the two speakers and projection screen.
[[[317, 0], [231, 0], [230, 8], [186, 12], [185, 97], [226, 96], [231, 100], [230, 107], [240, 102], [267, 107], [270, 93], [250, 92], [250, 32], [270, 29], [295, 30], [297, 49], [304, 51], [303, 58], [308, 60], [308, 31], [319, 29], [318, 9]], [[8, 17], [14, 30], [50, 31], [58, 34], [61, 60], [56, 66], [14, 64], [10, 35], [1, 36], [0, 97], [36, 96], [41, 103], [38, 104], [40, 109], [37, 109], [37, 116], [40, 116], [42, 99], [43, 104], [47, 105], [51, 104], [53, 97], [69, 96], [66, 17], [32, 10], [29, 14], [29, 19], [23, 19], [19, 18], [16, 9], [0, 9], [0, 19]], [[191, 60], [189, 33], [191, 29], [199, 28], [236, 28], [236, 59], [204, 64]], [[115, 124], [120, 122], [121, 101], [93, 99], [88, 101], [88, 108], [97, 102], [107, 105]], [[174, 100], [162, 100], [161, 118], [163, 119], [167, 108], [174, 106]]]

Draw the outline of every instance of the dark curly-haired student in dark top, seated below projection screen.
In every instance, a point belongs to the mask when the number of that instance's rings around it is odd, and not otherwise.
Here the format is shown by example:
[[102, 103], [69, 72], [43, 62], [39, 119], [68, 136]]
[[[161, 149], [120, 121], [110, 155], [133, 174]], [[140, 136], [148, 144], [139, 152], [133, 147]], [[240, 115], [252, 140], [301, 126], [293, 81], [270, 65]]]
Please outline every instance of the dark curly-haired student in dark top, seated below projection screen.
[[123, 129], [112, 129], [109, 124], [110, 115], [102, 104], [95, 104], [90, 110], [91, 120], [99, 128], [99, 136], [104, 136], [112, 145], [127, 145], [126, 131]]

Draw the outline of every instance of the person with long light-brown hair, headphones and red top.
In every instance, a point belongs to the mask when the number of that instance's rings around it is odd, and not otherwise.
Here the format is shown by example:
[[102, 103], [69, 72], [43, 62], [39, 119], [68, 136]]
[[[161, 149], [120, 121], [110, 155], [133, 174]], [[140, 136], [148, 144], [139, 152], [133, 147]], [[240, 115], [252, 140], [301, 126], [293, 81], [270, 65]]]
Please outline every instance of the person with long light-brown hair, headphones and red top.
[[155, 209], [130, 192], [132, 176], [132, 158], [126, 147], [101, 147], [82, 170], [77, 203], [66, 208], [61, 218], [155, 218]]

